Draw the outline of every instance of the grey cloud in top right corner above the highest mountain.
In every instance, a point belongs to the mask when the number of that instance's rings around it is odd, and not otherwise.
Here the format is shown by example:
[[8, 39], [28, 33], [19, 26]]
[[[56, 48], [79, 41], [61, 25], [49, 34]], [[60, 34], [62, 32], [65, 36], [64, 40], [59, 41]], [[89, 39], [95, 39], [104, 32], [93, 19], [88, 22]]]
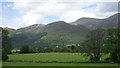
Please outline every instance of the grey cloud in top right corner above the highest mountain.
[[99, 2], [96, 7], [97, 17], [109, 17], [118, 12], [118, 2]]

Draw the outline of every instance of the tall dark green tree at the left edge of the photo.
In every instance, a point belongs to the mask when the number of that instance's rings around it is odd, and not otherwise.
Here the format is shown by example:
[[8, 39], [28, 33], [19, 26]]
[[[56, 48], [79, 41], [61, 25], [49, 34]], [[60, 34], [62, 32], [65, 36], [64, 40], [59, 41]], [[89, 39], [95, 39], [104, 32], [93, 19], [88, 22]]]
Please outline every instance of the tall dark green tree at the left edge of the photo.
[[11, 44], [11, 39], [9, 38], [8, 34], [9, 32], [5, 29], [0, 28], [2, 31], [2, 61], [7, 61], [8, 56], [7, 53], [10, 53], [12, 50], [12, 44]]

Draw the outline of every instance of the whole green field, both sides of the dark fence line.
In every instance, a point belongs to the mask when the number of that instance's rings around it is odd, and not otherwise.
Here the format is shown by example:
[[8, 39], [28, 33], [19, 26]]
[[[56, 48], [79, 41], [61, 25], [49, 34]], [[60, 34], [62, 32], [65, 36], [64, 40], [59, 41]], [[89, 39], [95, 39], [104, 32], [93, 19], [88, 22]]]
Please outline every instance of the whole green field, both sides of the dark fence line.
[[[32, 53], [11, 54], [10, 62], [3, 62], [4, 66], [116, 66], [110, 63], [82, 63], [90, 62], [89, 57], [80, 53]], [[101, 61], [108, 57], [103, 54]], [[43, 63], [44, 62], [44, 63]], [[73, 63], [74, 62], [74, 63]], [[80, 63], [78, 63], [80, 62]]]

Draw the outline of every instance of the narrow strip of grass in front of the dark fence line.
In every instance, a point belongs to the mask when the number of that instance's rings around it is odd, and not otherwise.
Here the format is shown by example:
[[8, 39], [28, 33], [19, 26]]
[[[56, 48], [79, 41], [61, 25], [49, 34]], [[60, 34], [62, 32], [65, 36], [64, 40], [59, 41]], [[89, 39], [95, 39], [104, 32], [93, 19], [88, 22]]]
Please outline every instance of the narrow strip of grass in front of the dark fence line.
[[118, 66], [110, 63], [32, 63], [32, 62], [3, 62], [3, 66]]

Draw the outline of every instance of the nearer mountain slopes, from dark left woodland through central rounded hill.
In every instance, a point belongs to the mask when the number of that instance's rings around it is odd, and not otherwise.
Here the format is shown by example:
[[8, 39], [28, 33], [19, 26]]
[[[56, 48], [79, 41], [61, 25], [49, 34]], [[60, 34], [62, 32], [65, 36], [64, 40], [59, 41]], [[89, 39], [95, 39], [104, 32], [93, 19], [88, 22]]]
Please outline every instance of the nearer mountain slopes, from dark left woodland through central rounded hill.
[[[84, 40], [89, 29], [81, 25], [71, 25], [64, 21], [57, 21], [37, 27], [32, 25], [26, 28], [18, 29], [19, 34], [11, 36], [14, 48], [24, 44], [31, 47], [35, 46], [61, 46], [66, 44], [75, 44]], [[38, 30], [37, 30], [38, 29]]]

